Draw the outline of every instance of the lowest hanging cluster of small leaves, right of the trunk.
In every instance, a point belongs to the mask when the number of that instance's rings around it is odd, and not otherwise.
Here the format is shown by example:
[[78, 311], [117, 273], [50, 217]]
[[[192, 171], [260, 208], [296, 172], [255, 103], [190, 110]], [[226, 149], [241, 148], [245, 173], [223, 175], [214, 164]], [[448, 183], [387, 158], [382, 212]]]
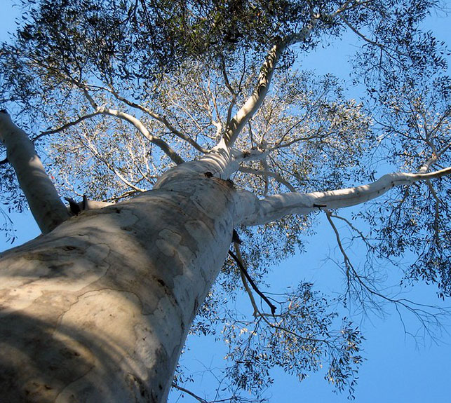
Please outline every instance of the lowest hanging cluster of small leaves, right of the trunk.
[[288, 294], [281, 313], [274, 318], [224, 326], [227, 358], [234, 362], [228, 373], [243, 390], [265, 388], [271, 383], [269, 370], [273, 367], [281, 367], [299, 380], [325, 367], [326, 380], [337, 390], [354, 392], [362, 362], [361, 334], [346, 317], [339, 330], [332, 331], [337, 313], [328, 312], [328, 306], [337, 301], [328, 301], [311, 287], [302, 283]]

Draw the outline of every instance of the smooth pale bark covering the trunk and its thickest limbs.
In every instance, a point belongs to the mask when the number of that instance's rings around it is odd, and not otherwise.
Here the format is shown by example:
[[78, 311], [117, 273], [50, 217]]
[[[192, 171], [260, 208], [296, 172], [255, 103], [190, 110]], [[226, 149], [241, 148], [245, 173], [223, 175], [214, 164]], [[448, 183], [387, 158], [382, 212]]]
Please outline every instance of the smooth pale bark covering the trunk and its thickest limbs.
[[[306, 39], [313, 26], [312, 17], [311, 26], [271, 49], [253, 95], [231, 119], [220, 144], [198, 161], [183, 163], [137, 118], [98, 107], [85, 89], [95, 114], [135, 125], [179, 165], [153, 191], [67, 221], [34, 149], [28, 144], [17, 150], [15, 144], [25, 144], [27, 136], [11, 119], [0, 118], [1, 139], [27, 200], [36, 203], [36, 221], [43, 220], [43, 232], [65, 221], [0, 255], [1, 399], [166, 402], [180, 350], [227, 256], [234, 227], [356, 205], [393, 186], [450, 175], [451, 168], [398, 173], [354, 188], [263, 200], [224, 180], [241, 160], [260, 158], [243, 156], [233, 149], [234, 141], [267, 95], [283, 50]], [[51, 203], [62, 205], [60, 219], [47, 218], [58, 210], [50, 207], [48, 213]]]

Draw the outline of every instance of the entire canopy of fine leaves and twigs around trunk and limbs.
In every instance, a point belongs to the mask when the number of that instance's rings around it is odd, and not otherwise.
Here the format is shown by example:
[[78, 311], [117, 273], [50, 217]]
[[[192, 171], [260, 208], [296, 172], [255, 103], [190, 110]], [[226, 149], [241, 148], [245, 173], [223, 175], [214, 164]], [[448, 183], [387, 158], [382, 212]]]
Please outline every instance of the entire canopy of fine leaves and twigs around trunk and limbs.
[[[100, 113], [102, 107], [138, 118], [184, 160], [200, 158], [253, 93], [269, 48], [310, 26], [311, 36], [284, 53], [271, 91], [236, 141], [243, 155], [267, 155], [241, 164], [231, 177], [236, 187], [264, 198], [354, 186], [378, 171], [418, 172], [431, 158], [429, 168], [451, 165], [447, 51], [419, 30], [434, 1], [21, 2], [18, 32], [0, 48], [0, 107], [34, 135], [62, 196], [122, 200], [152, 189], [173, 166], [130, 119]], [[295, 53], [325, 46], [345, 30], [363, 43], [354, 79], [367, 89], [364, 102], [349, 99], [333, 76], [293, 69]], [[0, 174], [0, 200], [21, 210], [25, 200], [6, 161]], [[231, 390], [258, 396], [273, 368], [300, 380], [322, 368], [336, 390], [352, 396], [362, 336], [332, 305], [346, 305], [349, 296], [362, 310], [368, 301], [399, 305], [377, 292], [375, 262], [405, 252], [416, 260], [404, 281], [434, 282], [440, 296], [450, 295], [448, 182], [393, 189], [355, 221], [334, 217], [348, 226], [351, 243], [368, 248], [370, 266], [354, 268], [342, 251], [347, 289], [338, 300], [302, 283], [277, 300], [276, 317], [240, 317], [233, 308], [245, 287], [227, 261], [191, 332], [227, 342]], [[304, 249], [316, 218], [238, 228], [257, 284], [264, 285], [270, 266]], [[356, 228], [360, 219], [369, 234]]]

